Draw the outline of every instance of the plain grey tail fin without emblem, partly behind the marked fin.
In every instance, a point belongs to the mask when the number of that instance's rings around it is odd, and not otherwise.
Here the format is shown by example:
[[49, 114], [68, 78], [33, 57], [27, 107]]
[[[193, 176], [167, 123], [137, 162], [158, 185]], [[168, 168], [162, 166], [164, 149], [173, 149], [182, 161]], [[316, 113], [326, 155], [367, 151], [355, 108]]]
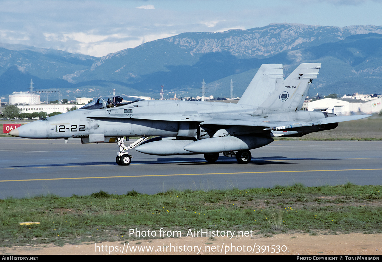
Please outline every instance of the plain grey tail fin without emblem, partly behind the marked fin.
[[265, 99], [274, 93], [277, 82], [282, 83], [283, 80], [282, 64], [261, 65], [238, 104], [260, 106]]

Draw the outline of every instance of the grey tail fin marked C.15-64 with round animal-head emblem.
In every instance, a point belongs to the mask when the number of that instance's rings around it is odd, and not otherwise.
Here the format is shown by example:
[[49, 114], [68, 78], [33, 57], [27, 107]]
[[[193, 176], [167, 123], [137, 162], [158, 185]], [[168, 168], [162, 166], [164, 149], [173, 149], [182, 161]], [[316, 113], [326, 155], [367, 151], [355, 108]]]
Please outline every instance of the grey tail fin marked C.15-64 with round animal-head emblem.
[[277, 82], [274, 92], [256, 109], [257, 113], [293, 112], [303, 106], [309, 84], [317, 78], [320, 63], [302, 63], [284, 81]]

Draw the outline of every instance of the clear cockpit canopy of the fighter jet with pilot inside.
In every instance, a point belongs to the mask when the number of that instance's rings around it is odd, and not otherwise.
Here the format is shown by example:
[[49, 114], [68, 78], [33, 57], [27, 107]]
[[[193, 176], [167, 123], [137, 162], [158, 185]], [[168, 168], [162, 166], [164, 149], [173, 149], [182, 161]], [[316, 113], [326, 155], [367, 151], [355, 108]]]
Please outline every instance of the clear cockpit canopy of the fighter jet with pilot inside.
[[105, 107], [112, 108], [118, 106], [125, 106], [127, 104], [135, 103], [142, 100], [144, 99], [134, 98], [131, 96], [103, 96], [87, 104], [86, 106], [81, 107], [80, 109], [93, 110], [102, 109]]

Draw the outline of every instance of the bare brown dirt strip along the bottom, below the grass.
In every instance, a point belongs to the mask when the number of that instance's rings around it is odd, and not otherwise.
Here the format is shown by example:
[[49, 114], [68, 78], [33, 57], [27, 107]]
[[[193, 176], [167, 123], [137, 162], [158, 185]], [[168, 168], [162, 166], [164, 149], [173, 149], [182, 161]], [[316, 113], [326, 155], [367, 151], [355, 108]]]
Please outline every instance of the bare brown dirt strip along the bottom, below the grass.
[[[109, 254], [110, 249], [116, 250], [110, 254], [289, 254], [289, 255], [380, 255], [382, 254], [382, 234], [338, 234], [317, 235], [309, 234], [277, 234], [272, 238], [240, 237], [229, 239], [217, 237], [182, 237], [139, 241], [87, 243], [80, 245], [66, 244], [63, 247], [54, 246], [15, 246], [0, 247], [0, 254], [9, 255], [69, 255], [69, 254]], [[97, 251], [96, 251], [96, 245]], [[124, 247], [125, 245], [125, 247]], [[272, 253], [272, 245], [275, 251]], [[112, 246], [112, 248], [110, 247]], [[258, 247], [259, 246], [259, 247]], [[268, 247], [269, 246], [269, 247]], [[277, 250], [280, 246], [280, 251]], [[122, 251], [122, 248], [124, 250]], [[130, 249], [136, 248], [136, 251]], [[138, 251], [144, 248], [145, 251]], [[153, 247], [147, 251], [147, 247]], [[206, 248], [207, 247], [207, 248]], [[236, 247], [236, 251], [231, 249]], [[255, 248], [254, 248], [255, 247]], [[102, 248], [104, 252], [102, 252]], [[167, 251], [166, 251], [167, 248]], [[176, 251], [177, 248], [177, 251]], [[268, 251], [269, 248], [269, 251]], [[128, 252], [126, 252], [128, 249]], [[170, 249], [172, 249], [170, 251]], [[184, 251], [186, 249], [186, 251]], [[188, 249], [188, 250], [187, 250]], [[191, 250], [192, 249], [192, 250]], [[200, 249], [200, 250], [199, 250]], [[265, 252], [264, 249], [266, 249]], [[283, 249], [283, 252], [281, 251]], [[175, 250], [175, 251], [174, 251]], [[278, 252], [279, 251], [279, 252]], [[277, 253], [278, 252], [278, 253]]]

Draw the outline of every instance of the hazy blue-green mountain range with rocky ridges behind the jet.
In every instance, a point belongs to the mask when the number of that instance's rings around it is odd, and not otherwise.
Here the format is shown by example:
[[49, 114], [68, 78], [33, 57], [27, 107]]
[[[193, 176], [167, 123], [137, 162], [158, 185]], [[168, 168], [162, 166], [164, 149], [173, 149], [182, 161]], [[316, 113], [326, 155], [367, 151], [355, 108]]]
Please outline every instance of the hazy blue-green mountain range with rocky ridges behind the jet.
[[[183, 33], [104, 57], [0, 44], [0, 96], [60, 90], [62, 98], [117, 94], [159, 98], [240, 97], [263, 63], [282, 63], [285, 77], [300, 63], [320, 62], [310, 95], [381, 93], [382, 26], [269, 24], [222, 33]], [[42, 97], [42, 100], [44, 97]]]

